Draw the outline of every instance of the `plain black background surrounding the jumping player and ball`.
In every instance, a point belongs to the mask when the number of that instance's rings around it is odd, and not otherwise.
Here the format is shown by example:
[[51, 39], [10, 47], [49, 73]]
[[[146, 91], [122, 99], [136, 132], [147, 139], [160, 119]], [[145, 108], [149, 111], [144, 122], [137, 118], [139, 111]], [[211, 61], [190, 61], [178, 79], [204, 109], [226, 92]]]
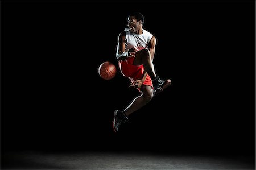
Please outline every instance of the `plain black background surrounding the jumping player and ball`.
[[[132, 11], [157, 42], [172, 85], [130, 116], [138, 94], [115, 60]], [[255, 2], [2, 1], [1, 150], [152, 151], [254, 156]]]

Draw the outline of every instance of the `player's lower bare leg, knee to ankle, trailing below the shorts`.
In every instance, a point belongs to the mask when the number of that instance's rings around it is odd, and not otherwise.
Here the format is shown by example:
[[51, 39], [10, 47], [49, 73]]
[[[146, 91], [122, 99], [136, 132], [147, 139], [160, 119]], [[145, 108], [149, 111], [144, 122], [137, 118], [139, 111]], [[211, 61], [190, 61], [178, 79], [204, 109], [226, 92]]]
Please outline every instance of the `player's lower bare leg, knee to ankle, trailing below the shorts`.
[[141, 109], [142, 106], [146, 105], [151, 101], [154, 96], [154, 90], [151, 86], [142, 86], [141, 87], [141, 95], [135, 97], [129, 106], [125, 108], [124, 113], [128, 116], [134, 111]]

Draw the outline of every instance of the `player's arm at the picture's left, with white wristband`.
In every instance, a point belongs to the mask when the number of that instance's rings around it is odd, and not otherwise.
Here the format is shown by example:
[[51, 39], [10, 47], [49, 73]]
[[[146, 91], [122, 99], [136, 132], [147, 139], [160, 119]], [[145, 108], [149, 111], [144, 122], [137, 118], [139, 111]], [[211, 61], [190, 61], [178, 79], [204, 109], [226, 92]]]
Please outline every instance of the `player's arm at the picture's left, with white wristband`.
[[127, 59], [128, 52], [125, 52], [125, 32], [121, 32], [118, 36], [118, 44], [117, 44], [117, 52], [115, 53], [115, 57], [118, 60]]

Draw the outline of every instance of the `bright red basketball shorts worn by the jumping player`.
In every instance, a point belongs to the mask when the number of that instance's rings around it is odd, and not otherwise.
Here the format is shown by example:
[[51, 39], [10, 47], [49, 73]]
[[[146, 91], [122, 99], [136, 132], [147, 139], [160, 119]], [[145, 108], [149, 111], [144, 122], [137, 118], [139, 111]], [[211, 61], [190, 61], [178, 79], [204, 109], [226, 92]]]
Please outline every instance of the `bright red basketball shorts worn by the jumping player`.
[[[118, 60], [121, 73], [123, 76], [130, 78], [131, 81], [141, 80], [144, 75], [143, 65], [133, 65], [134, 59], [135, 57], [129, 57], [127, 60]], [[142, 85], [149, 85], [153, 88], [152, 80], [148, 74]]]

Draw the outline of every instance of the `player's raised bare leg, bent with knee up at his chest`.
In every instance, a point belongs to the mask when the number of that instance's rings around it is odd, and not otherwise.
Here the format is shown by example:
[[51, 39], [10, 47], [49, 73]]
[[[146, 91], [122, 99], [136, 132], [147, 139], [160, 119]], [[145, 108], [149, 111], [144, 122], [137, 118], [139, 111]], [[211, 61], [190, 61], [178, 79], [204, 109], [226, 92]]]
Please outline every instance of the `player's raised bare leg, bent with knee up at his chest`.
[[138, 51], [136, 53], [136, 57], [134, 59], [134, 65], [141, 65], [143, 64], [146, 72], [148, 75], [154, 79], [156, 77], [155, 73], [155, 67], [154, 64], [152, 63], [150, 51], [148, 49], [142, 49], [141, 51]]

